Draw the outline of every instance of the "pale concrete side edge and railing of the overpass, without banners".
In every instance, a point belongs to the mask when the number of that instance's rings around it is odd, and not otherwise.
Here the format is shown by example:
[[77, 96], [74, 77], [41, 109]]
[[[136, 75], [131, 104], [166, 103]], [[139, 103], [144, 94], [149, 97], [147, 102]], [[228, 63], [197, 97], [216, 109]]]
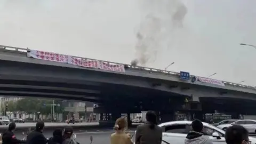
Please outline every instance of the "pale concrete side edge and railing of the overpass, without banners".
[[[236, 84], [231, 82], [225, 82], [222, 81], [225, 86], [219, 86], [214, 84], [207, 84], [207, 83], [201, 83], [201, 82], [194, 82], [191, 81], [182, 81], [180, 77], [180, 73], [173, 72], [173, 71], [167, 71], [167, 70], [161, 70], [161, 69], [154, 69], [154, 68], [147, 68], [147, 67], [139, 67], [139, 66], [131, 66], [123, 63], [116, 63], [116, 62], [109, 62], [109, 61], [102, 61], [106, 62], [108, 64], [113, 65], [124, 65], [125, 66], [125, 73], [118, 73], [115, 71], [107, 71], [107, 70], [101, 70], [101, 69], [91, 69], [91, 68], [85, 68], [85, 67], [78, 67], [74, 65], [70, 65], [68, 63], [61, 63], [61, 62], [53, 62], [53, 61], [46, 61], [46, 60], [38, 60], [33, 58], [27, 58], [27, 51], [28, 49], [22, 49], [19, 47], [11, 47], [11, 46], [3, 46], [0, 45], [0, 59], [6, 60], [6, 61], [18, 61], [18, 62], [26, 62], [26, 63], [35, 63], [39, 65], [50, 65], [50, 66], [59, 66], [59, 67], [68, 67], [68, 68], [79, 68], [79, 69], [86, 69], [86, 70], [94, 70], [94, 71], [102, 71], [106, 73], [116, 73], [117, 75], [130, 75], [135, 77], [148, 77], [148, 78], [154, 78], [154, 79], [162, 79], [165, 81], [173, 81], [178, 83], [187, 83], [187, 84], [193, 84], [193, 85], [199, 85], [199, 86], [209, 86], [214, 87], [218, 89], [226, 89], [226, 90], [232, 90], [232, 91], [241, 91], [245, 93], [253, 93], [256, 94], [255, 87], [242, 85], [242, 84]], [[75, 57], [75, 56], [72, 56]], [[81, 57], [75, 57], [79, 59], [86, 59], [86, 60], [94, 60], [89, 58], [81, 58]], [[193, 75], [190, 75], [190, 80]], [[197, 77], [197, 76], [196, 76]]]

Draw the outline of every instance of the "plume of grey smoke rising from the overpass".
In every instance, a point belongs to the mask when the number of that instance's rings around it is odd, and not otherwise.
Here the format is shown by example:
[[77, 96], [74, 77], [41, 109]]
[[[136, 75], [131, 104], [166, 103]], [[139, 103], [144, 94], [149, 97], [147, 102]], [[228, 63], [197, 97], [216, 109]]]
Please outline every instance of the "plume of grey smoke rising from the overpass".
[[[145, 4], [145, 3], [143, 3]], [[143, 9], [149, 10], [140, 22], [135, 45], [136, 59], [132, 63], [146, 66], [157, 59], [157, 53], [169, 41], [171, 29], [183, 27], [187, 7], [179, 0], [148, 1]], [[151, 10], [151, 11], [150, 11]]]

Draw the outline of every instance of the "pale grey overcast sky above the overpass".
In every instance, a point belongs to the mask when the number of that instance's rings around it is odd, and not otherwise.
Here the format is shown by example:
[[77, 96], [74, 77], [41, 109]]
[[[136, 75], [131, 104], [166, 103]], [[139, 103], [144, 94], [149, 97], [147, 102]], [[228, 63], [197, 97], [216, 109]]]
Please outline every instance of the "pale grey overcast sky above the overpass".
[[254, 0], [0, 0], [0, 45], [121, 63], [147, 57], [147, 67], [164, 69], [175, 62], [168, 70], [217, 73], [212, 78], [256, 86], [256, 49], [239, 45], [256, 45], [255, 5]]

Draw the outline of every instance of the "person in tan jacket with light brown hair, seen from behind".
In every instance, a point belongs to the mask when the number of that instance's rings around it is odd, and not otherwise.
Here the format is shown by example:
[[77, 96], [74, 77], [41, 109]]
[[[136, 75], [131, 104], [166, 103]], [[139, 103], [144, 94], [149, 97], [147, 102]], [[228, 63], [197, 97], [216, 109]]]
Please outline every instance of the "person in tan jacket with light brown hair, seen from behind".
[[133, 144], [132, 137], [130, 133], [125, 133], [127, 129], [127, 120], [126, 118], [116, 119], [114, 126], [115, 133], [111, 134], [110, 143], [111, 144]]

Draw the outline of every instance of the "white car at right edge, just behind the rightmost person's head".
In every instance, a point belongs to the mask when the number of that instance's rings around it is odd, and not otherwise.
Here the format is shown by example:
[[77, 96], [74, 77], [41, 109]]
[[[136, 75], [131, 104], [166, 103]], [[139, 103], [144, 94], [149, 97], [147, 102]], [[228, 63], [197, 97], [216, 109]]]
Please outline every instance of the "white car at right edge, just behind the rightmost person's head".
[[217, 127], [223, 131], [226, 131], [226, 129], [231, 125], [242, 125], [249, 131], [249, 133], [256, 133], [256, 121], [251, 119], [241, 119], [231, 124], [222, 124], [218, 125]]

